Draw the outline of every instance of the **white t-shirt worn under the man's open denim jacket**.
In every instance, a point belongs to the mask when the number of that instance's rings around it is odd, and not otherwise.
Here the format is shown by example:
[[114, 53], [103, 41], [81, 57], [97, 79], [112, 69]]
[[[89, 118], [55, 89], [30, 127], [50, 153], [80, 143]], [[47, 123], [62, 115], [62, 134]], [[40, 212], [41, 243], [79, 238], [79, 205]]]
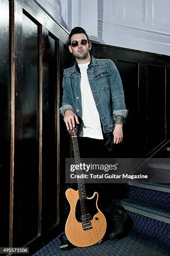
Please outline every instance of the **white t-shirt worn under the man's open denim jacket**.
[[82, 100], [82, 123], [79, 136], [103, 139], [99, 113], [87, 77], [89, 63], [78, 64], [81, 73], [80, 90]]

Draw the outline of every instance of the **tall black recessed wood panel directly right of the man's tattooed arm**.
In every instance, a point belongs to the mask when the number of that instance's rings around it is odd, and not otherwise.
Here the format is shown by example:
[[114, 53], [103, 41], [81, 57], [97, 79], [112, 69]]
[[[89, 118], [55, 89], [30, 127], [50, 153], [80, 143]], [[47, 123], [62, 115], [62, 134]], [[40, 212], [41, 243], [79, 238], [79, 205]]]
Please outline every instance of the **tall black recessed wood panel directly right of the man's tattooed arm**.
[[[129, 110], [128, 118], [124, 129], [123, 139], [123, 154], [121, 150], [121, 157], [137, 157], [136, 153], [139, 151], [138, 137], [139, 137], [139, 98], [138, 95], [138, 63], [117, 61], [117, 69], [120, 72], [122, 79], [126, 109]], [[132, 129], [131, 122], [135, 117], [135, 128]], [[135, 138], [132, 139], [132, 138]], [[128, 150], [130, 145], [131, 151]], [[115, 149], [116, 149], [115, 145]]]

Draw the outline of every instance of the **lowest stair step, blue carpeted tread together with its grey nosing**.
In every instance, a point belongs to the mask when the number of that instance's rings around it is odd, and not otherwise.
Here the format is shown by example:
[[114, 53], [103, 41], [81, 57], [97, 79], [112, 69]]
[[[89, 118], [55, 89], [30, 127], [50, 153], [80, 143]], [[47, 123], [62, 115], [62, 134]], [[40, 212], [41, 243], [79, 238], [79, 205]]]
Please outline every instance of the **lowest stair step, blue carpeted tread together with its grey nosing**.
[[123, 200], [113, 200], [118, 205], [122, 205], [125, 210], [136, 212], [138, 214], [153, 218], [155, 220], [160, 220], [165, 223], [170, 224], [170, 210], [169, 209], [159, 209], [154, 205], [147, 205], [142, 202], [136, 202], [132, 199], [123, 199]]

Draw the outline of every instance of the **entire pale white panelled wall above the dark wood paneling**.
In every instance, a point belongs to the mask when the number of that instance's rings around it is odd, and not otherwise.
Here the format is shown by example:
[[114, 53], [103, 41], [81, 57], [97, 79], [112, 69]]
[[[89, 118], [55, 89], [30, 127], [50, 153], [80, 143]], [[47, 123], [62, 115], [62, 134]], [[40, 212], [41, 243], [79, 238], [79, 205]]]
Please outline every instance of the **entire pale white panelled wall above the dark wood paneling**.
[[36, 0], [67, 31], [92, 41], [170, 55], [170, 0]]

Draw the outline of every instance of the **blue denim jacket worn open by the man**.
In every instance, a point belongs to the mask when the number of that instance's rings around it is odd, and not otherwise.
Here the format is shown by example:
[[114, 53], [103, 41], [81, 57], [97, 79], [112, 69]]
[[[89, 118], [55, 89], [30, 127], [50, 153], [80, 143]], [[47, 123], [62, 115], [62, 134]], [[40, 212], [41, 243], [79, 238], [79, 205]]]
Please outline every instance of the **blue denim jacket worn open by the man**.
[[[87, 76], [103, 131], [108, 133], [115, 128], [116, 115], [122, 115], [123, 118], [128, 115], [120, 74], [110, 59], [95, 59], [91, 55]], [[80, 70], [75, 61], [75, 64], [65, 69], [63, 74], [62, 107], [59, 109], [63, 116], [67, 109], [71, 109], [82, 118], [80, 79]]]

